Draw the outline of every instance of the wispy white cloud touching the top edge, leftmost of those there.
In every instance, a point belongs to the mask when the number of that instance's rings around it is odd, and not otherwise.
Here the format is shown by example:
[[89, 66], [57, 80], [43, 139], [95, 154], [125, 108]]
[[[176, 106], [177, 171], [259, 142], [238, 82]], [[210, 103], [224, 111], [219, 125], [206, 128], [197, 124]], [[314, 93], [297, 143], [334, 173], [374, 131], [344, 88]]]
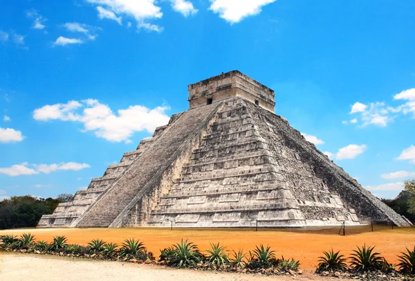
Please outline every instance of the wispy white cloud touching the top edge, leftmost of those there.
[[[89, 3], [93, 3], [102, 9], [98, 10], [98, 17], [105, 17], [111, 19], [120, 18], [121, 15], [126, 17], [133, 17], [138, 22], [138, 28], [146, 28], [160, 32], [163, 28], [156, 26], [155, 24], [149, 24], [148, 21], [151, 19], [160, 19], [163, 17], [161, 8], [156, 6], [156, 0], [86, 0]], [[113, 15], [109, 12], [112, 12]], [[104, 14], [103, 14], [104, 13]], [[118, 20], [117, 20], [118, 21]], [[121, 21], [121, 18], [120, 18]]]

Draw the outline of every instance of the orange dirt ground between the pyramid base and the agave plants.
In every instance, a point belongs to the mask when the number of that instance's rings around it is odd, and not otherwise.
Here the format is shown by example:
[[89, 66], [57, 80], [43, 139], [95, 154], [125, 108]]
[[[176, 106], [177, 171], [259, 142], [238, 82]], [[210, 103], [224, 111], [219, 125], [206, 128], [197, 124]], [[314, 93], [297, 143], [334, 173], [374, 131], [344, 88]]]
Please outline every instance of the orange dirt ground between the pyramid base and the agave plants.
[[[369, 228], [369, 229], [368, 229]], [[220, 242], [228, 250], [248, 252], [255, 245], [271, 246], [277, 257], [294, 257], [301, 262], [301, 268], [315, 269], [318, 257], [322, 251], [341, 251], [347, 257], [356, 246], [376, 246], [388, 262], [396, 263], [396, 255], [413, 248], [415, 245], [415, 228], [380, 228], [375, 232], [366, 228], [349, 228], [346, 236], [338, 235], [339, 228], [325, 230], [259, 230], [255, 229], [181, 229], [174, 228], [30, 228], [15, 230], [0, 230], [0, 235], [33, 233], [37, 240], [50, 242], [56, 235], [65, 235], [68, 243], [87, 244], [91, 239], [103, 239], [106, 242], [121, 244], [124, 239], [136, 238], [145, 243], [149, 251], [156, 257], [160, 248], [166, 248], [183, 239], [189, 239], [199, 246], [199, 249], [210, 248], [210, 242]], [[369, 232], [367, 231], [369, 230]]]

